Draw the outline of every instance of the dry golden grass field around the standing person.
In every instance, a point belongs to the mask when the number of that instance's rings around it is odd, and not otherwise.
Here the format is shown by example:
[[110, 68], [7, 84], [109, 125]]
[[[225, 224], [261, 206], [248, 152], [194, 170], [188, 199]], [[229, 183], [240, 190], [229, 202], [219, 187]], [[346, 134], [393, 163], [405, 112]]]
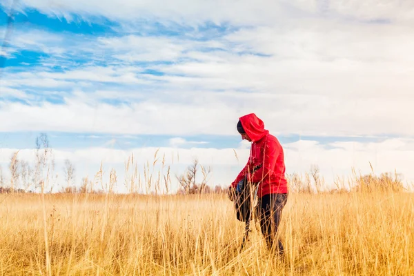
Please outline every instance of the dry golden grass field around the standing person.
[[[1, 275], [414, 275], [414, 195], [291, 194], [270, 255], [226, 195], [0, 195]], [[258, 224], [257, 224], [258, 226]]]

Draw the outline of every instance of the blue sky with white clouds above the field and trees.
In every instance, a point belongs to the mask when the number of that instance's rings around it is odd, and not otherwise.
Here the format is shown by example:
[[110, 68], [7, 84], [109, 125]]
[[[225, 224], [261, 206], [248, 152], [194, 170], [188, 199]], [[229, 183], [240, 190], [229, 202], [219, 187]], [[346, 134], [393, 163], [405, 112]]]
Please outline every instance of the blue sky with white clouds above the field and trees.
[[371, 162], [414, 181], [413, 1], [12, 3], [0, 4], [2, 40], [14, 10], [0, 50], [3, 175], [14, 150], [34, 160], [45, 132], [78, 181], [102, 161], [122, 190], [128, 156], [142, 173], [160, 148], [175, 173], [197, 157], [228, 186], [248, 157], [237, 120], [255, 112], [289, 174], [316, 164], [331, 184]]

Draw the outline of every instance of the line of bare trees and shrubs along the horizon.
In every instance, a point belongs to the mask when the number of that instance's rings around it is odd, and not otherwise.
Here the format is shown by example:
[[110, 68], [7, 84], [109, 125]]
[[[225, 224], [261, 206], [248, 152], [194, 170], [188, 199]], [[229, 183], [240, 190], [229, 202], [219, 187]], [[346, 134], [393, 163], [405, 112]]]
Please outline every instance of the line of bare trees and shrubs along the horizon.
[[[157, 151], [158, 152], [158, 151]], [[157, 152], [155, 153], [156, 164]], [[27, 161], [20, 160], [19, 150], [14, 152], [10, 157], [10, 181], [6, 181], [3, 177], [3, 168], [0, 166], [0, 193], [52, 193], [52, 190], [57, 184], [57, 173], [55, 172], [55, 159], [52, 155], [52, 148], [48, 140], [48, 136], [41, 133], [36, 138], [35, 163], [30, 166]], [[165, 156], [163, 158], [164, 166]], [[371, 165], [371, 164], [370, 164]], [[126, 162], [126, 172], [132, 168], [133, 173], [131, 177], [126, 177], [126, 187], [128, 193], [137, 193], [137, 186], [141, 184], [141, 176], [137, 172], [137, 164], [134, 157], [128, 159]], [[372, 169], [372, 166], [371, 166]], [[117, 184], [117, 173], [114, 169], [110, 170], [109, 183], [103, 183], [103, 168], [102, 164], [94, 179], [83, 177], [81, 185], [75, 185], [75, 166], [66, 159], [63, 165], [63, 185], [57, 193], [114, 193], [114, 187]], [[211, 168], [208, 166], [201, 166], [198, 159], [193, 159], [181, 175], [175, 175], [179, 184], [177, 194], [192, 195], [201, 193], [226, 193], [227, 188], [221, 186], [210, 186]], [[345, 181], [344, 179], [335, 179], [335, 188], [329, 190], [326, 187], [324, 178], [320, 175], [319, 167], [312, 165], [308, 172], [304, 175], [293, 173], [287, 175], [289, 190], [293, 193], [350, 193], [362, 192], [371, 193], [374, 191], [384, 192], [400, 192], [404, 190], [404, 185], [397, 173], [382, 173], [380, 176], [369, 173], [367, 175], [357, 175], [354, 172], [354, 179]], [[163, 181], [166, 190], [168, 191], [171, 184], [170, 181], [170, 167], [168, 167], [167, 175], [158, 175], [158, 179], [154, 179], [149, 170], [149, 164], [144, 164], [144, 184], [148, 188], [148, 192], [152, 187], [159, 188], [159, 184]], [[7, 185], [7, 183], [8, 185]], [[61, 183], [62, 184], [62, 183]], [[100, 186], [99, 188], [97, 188]], [[157, 194], [157, 191], [154, 192]]]

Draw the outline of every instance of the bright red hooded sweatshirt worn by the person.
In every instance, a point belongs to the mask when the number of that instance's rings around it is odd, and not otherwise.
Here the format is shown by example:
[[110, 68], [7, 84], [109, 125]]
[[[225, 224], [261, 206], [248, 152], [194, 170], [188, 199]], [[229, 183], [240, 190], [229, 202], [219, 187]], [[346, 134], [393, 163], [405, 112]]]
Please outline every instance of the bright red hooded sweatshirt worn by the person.
[[[237, 175], [231, 186], [236, 187], [237, 183], [246, 175], [248, 181], [259, 182], [258, 197], [270, 193], [288, 193], [284, 151], [277, 138], [264, 129], [263, 121], [254, 113], [241, 117], [240, 122], [253, 143], [246, 166]], [[253, 172], [253, 168], [260, 165], [262, 167]]]

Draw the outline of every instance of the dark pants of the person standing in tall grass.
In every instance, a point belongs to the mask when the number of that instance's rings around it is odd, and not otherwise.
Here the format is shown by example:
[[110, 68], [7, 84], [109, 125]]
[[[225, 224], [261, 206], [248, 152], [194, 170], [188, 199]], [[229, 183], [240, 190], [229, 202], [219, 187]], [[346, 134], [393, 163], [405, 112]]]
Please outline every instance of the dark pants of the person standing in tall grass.
[[[259, 208], [260, 228], [269, 250], [273, 250], [282, 210], [287, 200], [288, 194], [270, 194], [259, 198], [257, 207]], [[280, 239], [277, 239], [277, 250], [280, 254], [284, 253], [284, 247]]]

